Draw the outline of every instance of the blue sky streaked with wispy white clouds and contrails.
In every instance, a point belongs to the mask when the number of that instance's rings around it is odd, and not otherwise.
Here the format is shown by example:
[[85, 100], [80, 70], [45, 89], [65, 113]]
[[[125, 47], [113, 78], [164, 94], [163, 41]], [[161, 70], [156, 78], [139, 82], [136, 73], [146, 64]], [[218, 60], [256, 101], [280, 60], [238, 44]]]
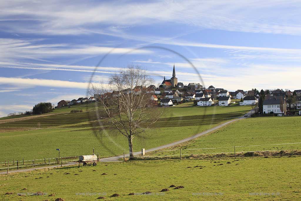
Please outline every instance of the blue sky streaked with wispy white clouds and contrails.
[[0, 117], [86, 97], [90, 80], [129, 64], [155, 85], [175, 64], [184, 84], [301, 89], [300, 1], [2, 0], [0, 10]]

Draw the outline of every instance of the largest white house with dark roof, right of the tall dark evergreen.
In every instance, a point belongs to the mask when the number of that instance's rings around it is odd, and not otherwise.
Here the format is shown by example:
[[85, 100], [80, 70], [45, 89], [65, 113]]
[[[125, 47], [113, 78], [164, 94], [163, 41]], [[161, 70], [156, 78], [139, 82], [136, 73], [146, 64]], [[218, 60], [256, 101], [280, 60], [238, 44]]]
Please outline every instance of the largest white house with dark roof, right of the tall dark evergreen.
[[[283, 111], [281, 111], [281, 108]], [[286, 114], [286, 101], [284, 99], [269, 99], [263, 101], [263, 112], [269, 114], [271, 112], [275, 114]]]

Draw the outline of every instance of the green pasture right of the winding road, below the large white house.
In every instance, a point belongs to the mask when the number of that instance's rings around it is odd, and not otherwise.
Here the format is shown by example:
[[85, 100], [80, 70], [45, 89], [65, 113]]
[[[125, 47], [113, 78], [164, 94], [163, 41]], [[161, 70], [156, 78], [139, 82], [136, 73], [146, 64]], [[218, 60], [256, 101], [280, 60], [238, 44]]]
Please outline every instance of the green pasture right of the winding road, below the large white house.
[[[270, 145], [301, 142], [301, 117], [262, 117], [247, 118], [231, 123], [219, 130], [195, 140], [179, 144], [168, 149], [201, 149], [182, 150], [183, 154], [202, 154], [214, 152], [261, 151], [261, 150], [301, 150], [301, 144]], [[251, 146], [247, 146], [251, 145]], [[265, 146], [253, 146], [265, 145]], [[269, 146], [270, 145], [270, 146]], [[239, 147], [244, 146], [244, 147]], [[225, 148], [226, 147], [226, 148]], [[228, 147], [228, 148], [227, 148]], [[168, 152], [178, 154], [178, 152]], [[154, 154], [154, 153], [151, 153]], [[156, 153], [156, 155], [162, 153]]]

